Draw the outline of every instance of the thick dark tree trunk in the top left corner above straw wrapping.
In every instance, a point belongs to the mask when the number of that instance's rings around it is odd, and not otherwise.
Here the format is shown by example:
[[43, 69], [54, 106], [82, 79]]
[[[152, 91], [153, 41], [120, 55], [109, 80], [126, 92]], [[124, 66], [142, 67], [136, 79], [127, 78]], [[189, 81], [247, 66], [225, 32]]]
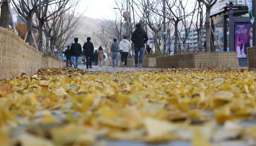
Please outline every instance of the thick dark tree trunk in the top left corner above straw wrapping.
[[7, 2], [2, 3], [0, 26], [3, 28], [9, 29], [9, 9], [8, 9]]

